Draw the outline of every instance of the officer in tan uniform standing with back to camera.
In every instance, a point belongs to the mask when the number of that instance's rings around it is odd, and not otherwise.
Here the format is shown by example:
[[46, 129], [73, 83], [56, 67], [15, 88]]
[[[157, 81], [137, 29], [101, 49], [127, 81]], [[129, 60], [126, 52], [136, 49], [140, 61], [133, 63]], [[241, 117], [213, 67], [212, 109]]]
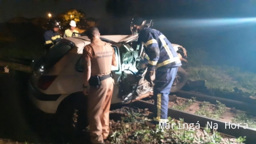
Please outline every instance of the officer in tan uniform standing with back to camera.
[[115, 50], [100, 40], [97, 27], [87, 31], [91, 43], [84, 47], [84, 95], [88, 95], [88, 118], [92, 143], [104, 143], [109, 134], [109, 110], [113, 93], [111, 65], [116, 66]]

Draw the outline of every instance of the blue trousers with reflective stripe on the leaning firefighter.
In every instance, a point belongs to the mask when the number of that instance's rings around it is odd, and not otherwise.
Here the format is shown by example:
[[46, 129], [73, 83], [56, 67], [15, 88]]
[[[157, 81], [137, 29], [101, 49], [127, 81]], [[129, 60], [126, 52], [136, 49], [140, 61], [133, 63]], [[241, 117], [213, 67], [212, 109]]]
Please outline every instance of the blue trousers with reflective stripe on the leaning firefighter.
[[177, 74], [178, 67], [173, 68], [158, 68], [156, 69], [155, 74], [155, 85], [154, 85], [154, 112], [153, 120], [155, 124], [166, 123], [168, 121], [168, 102], [169, 102], [169, 93], [175, 76]]

